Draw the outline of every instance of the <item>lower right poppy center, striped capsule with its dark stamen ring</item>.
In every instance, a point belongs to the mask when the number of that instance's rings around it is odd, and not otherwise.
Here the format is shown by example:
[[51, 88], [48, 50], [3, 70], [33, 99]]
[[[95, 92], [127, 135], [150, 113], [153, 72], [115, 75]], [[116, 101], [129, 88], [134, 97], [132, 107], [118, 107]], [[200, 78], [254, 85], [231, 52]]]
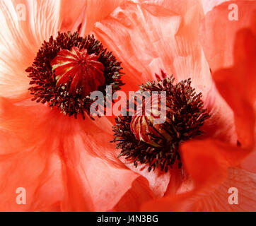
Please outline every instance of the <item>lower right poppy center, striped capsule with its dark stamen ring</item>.
[[[173, 76], [166, 78], [162, 72], [161, 77], [163, 80], [157, 83], [153, 81], [140, 85], [141, 93], [151, 93], [148, 114], [141, 114], [136, 102], [135, 114], [130, 116], [132, 111], [127, 109], [127, 116], [117, 117], [117, 124], [113, 128], [115, 138], [112, 142], [117, 142], [116, 147], [121, 149], [119, 157], [126, 156], [126, 159], [134, 162], [135, 167], [138, 162], [147, 164], [149, 172], [156, 167], [166, 172], [175, 162], [182, 167], [180, 144], [202, 134], [201, 127], [209, 119], [201, 100], [202, 94], [194, 92], [190, 79], [173, 84]], [[160, 110], [160, 113], [165, 112], [165, 120], [161, 122], [155, 121], [160, 100], [153, 100], [154, 91], [166, 94], [166, 105]], [[147, 102], [148, 98], [142, 102], [142, 106]]]

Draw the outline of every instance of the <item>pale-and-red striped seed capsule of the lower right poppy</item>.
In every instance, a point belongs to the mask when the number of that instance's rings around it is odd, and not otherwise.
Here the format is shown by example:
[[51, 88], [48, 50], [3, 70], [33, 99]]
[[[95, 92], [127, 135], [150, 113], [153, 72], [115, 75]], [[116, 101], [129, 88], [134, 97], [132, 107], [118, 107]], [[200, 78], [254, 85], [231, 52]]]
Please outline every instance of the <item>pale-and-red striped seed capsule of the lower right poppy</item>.
[[154, 147], [161, 147], [170, 143], [172, 137], [163, 128], [170, 108], [166, 107], [166, 98], [163, 95], [152, 95], [146, 97], [142, 102], [142, 107], [136, 110], [132, 117], [130, 128], [138, 141], [144, 141]]

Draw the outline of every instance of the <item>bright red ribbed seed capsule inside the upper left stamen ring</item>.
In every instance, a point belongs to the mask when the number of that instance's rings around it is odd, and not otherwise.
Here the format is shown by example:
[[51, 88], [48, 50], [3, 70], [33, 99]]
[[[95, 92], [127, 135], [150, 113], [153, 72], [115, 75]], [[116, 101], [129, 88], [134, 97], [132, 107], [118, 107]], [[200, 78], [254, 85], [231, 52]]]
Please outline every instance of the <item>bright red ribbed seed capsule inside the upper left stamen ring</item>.
[[81, 89], [82, 95], [86, 96], [105, 83], [105, 67], [98, 61], [98, 56], [88, 54], [87, 49], [83, 51], [79, 51], [77, 47], [72, 47], [71, 50], [62, 49], [50, 64], [55, 73], [56, 85], [71, 81], [69, 87], [71, 94]]

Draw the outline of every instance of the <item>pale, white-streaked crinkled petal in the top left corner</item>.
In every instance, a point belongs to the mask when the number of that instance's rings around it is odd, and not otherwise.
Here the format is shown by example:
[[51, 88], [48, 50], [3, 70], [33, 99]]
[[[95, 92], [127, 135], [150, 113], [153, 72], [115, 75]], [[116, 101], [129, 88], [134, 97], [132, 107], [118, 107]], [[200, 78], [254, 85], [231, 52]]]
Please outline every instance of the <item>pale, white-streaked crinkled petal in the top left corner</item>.
[[25, 69], [37, 49], [59, 30], [60, 1], [0, 2], [0, 95], [15, 97], [28, 89]]

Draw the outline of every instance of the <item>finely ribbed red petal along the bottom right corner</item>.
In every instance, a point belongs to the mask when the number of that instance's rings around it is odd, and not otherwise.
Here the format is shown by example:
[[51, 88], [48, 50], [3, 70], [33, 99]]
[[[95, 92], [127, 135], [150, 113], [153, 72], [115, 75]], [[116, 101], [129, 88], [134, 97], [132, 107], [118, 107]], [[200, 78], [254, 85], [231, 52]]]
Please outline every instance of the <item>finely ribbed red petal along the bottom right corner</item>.
[[[256, 175], [245, 170], [230, 168], [228, 178], [216, 189], [202, 189], [176, 196], [166, 196], [144, 203], [142, 211], [255, 211]], [[233, 203], [234, 190], [238, 191], [238, 203]]]

